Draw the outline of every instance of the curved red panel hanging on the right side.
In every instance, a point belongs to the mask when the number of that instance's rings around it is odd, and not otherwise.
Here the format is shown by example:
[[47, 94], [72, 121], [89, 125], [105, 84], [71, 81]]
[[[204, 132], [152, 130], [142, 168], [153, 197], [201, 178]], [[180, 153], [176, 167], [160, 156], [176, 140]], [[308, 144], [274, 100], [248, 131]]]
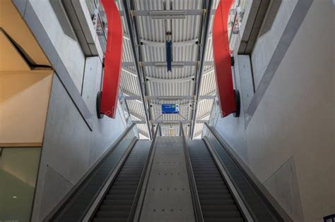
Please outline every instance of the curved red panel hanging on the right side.
[[237, 110], [228, 42], [228, 16], [233, 0], [221, 0], [213, 21], [213, 55], [221, 116]]

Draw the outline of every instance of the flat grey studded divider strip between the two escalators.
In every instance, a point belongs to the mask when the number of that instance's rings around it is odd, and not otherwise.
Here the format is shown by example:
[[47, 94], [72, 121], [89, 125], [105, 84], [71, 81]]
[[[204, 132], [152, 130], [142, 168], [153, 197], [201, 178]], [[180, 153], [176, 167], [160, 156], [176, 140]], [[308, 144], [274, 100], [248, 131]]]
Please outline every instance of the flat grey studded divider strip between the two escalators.
[[140, 221], [195, 221], [182, 137], [158, 137]]

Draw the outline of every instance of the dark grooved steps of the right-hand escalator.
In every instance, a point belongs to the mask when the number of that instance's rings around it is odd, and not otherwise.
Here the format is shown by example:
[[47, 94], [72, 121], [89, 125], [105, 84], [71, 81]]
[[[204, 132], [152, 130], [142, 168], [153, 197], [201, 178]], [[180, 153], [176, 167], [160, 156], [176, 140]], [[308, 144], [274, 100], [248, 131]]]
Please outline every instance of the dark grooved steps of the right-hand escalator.
[[245, 221], [204, 141], [187, 145], [204, 221]]

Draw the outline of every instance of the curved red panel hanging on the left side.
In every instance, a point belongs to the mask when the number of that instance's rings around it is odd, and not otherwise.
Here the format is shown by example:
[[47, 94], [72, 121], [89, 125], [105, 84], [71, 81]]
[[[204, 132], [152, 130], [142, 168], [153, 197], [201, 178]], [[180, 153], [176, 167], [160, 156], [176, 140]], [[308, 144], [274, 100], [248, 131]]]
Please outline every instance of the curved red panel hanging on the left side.
[[108, 32], [105, 52], [100, 113], [115, 117], [122, 66], [122, 24], [119, 10], [113, 0], [102, 0], [106, 11]]

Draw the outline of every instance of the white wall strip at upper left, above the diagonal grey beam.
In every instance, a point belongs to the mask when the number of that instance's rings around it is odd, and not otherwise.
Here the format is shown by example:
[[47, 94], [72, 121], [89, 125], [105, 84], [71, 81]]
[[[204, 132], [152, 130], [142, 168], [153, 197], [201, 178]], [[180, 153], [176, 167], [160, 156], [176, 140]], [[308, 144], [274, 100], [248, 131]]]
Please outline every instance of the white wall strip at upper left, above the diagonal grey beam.
[[64, 34], [49, 0], [29, 1], [78, 91], [81, 92], [85, 56], [79, 42]]

